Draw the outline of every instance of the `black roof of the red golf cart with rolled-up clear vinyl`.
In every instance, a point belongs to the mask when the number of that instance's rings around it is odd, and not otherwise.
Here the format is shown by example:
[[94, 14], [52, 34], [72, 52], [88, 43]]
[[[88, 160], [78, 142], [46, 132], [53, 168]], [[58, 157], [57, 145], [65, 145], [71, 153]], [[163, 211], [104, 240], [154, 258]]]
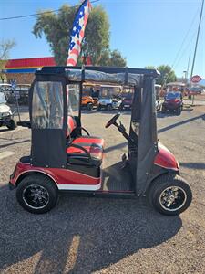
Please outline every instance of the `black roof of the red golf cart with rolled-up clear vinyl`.
[[69, 81], [97, 82], [141, 86], [144, 77], [157, 78], [159, 72], [146, 68], [115, 67], [44, 67], [36, 71], [36, 76], [53, 75], [65, 77]]

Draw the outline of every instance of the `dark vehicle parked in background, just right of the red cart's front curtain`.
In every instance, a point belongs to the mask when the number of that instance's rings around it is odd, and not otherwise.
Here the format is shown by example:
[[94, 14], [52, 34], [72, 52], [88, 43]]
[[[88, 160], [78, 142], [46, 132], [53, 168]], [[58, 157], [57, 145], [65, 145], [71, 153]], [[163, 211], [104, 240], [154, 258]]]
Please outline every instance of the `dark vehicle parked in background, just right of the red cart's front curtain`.
[[169, 92], [162, 104], [162, 113], [166, 111], [176, 111], [178, 115], [180, 115], [183, 109], [183, 100], [180, 92]]

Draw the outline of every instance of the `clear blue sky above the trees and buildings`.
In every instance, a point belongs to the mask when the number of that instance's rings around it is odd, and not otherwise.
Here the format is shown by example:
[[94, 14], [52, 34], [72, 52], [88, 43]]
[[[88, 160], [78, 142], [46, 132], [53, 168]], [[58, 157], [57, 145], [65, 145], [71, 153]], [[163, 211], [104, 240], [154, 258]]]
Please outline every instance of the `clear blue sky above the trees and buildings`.
[[[57, 9], [69, 0], [1, 0], [0, 17], [22, 16], [39, 9]], [[108, 12], [110, 47], [127, 58], [128, 67], [175, 65], [179, 77], [193, 58], [201, 0], [100, 0]], [[51, 56], [46, 39], [31, 33], [36, 17], [0, 21], [0, 38], [14, 38], [10, 58]], [[194, 74], [205, 78], [205, 13]], [[182, 42], [184, 41], [183, 45]], [[181, 47], [182, 45], [182, 47]], [[181, 50], [179, 51], [179, 49]]]

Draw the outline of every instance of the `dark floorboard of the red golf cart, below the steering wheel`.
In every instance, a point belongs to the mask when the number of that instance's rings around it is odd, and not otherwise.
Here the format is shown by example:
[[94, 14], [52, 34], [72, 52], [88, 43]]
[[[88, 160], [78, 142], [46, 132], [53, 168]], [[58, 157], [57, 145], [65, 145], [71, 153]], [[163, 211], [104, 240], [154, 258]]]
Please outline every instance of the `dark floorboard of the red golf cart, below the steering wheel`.
[[134, 191], [133, 179], [129, 167], [121, 167], [121, 163], [116, 163], [103, 169], [101, 191], [129, 192]]

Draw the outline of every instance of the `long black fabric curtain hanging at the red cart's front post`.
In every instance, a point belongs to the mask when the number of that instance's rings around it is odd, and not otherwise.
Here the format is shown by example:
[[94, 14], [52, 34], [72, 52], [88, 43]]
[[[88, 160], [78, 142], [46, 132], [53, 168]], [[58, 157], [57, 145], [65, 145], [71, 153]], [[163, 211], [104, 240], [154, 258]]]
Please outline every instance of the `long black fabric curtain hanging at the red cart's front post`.
[[138, 135], [137, 195], [143, 195], [149, 184], [154, 158], [158, 153], [157, 121], [155, 107], [155, 79], [144, 77], [140, 125]]

